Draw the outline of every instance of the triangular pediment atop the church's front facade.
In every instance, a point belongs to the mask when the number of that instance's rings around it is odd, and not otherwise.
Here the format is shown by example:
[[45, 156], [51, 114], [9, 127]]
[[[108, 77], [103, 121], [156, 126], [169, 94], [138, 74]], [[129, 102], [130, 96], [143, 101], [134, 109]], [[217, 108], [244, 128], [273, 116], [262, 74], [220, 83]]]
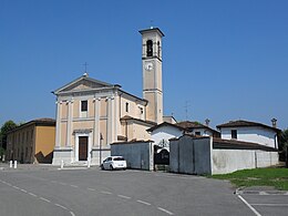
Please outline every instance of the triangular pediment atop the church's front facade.
[[85, 91], [85, 90], [95, 90], [102, 88], [113, 86], [112, 84], [97, 81], [91, 78], [82, 76], [71, 83], [58, 89], [54, 93], [72, 92], [72, 91]]

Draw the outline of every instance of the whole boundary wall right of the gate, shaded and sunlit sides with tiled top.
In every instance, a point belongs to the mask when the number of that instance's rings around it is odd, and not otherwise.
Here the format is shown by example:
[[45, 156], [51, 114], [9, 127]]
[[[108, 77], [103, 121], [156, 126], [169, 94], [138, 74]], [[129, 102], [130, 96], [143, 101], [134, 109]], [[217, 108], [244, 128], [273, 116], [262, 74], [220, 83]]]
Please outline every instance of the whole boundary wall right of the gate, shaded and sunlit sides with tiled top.
[[225, 174], [278, 164], [275, 148], [255, 143], [184, 135], [169, 141], [169, 171]]

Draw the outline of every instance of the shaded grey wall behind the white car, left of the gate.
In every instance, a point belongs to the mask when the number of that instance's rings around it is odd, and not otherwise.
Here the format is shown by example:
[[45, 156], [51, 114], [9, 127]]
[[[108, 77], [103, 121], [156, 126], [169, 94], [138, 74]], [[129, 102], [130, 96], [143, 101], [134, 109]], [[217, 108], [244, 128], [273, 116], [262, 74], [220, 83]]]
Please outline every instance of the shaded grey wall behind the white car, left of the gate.
[[153, 171], [154, 144], [152, 142], [127, 142], [111, 144], [112, 156], [123, 156], [127, 168]]

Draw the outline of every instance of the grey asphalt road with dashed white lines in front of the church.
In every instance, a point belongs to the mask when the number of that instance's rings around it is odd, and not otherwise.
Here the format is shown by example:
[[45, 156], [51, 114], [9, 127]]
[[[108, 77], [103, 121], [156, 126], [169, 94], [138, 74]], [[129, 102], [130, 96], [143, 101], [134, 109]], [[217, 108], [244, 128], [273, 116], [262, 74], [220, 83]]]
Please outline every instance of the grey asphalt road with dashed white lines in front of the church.
[[255, 215], [228, 182], [140, 171], [3, 169], [0, 215]]

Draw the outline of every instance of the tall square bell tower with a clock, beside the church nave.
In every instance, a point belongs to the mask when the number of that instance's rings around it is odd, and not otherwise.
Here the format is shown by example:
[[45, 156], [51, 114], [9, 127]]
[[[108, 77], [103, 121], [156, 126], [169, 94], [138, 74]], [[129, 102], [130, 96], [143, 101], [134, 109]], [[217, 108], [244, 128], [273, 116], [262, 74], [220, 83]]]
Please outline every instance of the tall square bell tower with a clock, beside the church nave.
[[148, 101], [146, 120], [161, 124], [163, 122], [162, 91], [162, 38], [158, 28], [141, 30], [143, 97]]

